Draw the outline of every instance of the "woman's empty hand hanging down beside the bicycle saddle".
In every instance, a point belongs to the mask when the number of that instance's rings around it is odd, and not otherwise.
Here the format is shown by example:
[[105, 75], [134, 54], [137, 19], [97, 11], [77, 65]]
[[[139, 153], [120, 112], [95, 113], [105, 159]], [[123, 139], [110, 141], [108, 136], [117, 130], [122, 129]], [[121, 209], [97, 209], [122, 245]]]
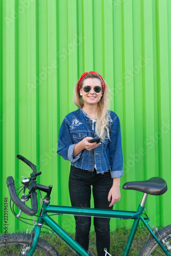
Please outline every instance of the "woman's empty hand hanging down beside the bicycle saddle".
[[120, 200], [120, 178], [113, 178], [113, 185], [108, 195], [108, 201], [110, 202], [109, 207], [119, 202], [119, 200]]

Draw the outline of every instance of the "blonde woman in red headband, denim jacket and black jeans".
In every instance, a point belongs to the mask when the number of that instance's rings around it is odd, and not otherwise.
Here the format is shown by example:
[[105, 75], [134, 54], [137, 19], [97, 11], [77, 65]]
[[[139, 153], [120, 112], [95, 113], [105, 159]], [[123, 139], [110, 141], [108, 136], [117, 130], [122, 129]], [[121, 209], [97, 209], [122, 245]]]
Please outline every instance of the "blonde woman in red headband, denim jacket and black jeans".
[[[79, 109], [63, 120], [57, 153], [71, 161], [69, 191], [72, 206], [90, 207], [91, 186], [94, 207], [112, 209], [120, 200], [123, 175], [120, 122], [108, 109], [109, 87], [99, 73], [83, 73], [76, 83], [74, 103]], [[100, 138], [99, 143], [90, 143]], [[89, 247], [91, 217], [75, 216], [75, 240]], [[98, 256], [110, 250], [110, 219], [95, 218]]]

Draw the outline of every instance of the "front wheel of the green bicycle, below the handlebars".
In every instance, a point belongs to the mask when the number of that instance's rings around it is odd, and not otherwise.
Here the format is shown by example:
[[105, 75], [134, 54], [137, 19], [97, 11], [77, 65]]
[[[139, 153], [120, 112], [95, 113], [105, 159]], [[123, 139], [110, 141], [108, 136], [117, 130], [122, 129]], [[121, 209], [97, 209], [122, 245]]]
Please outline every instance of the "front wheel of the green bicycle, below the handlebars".
[[[8, 236], [5, 238], [5, 236]], [[6, 239], [6, 240], [5, 240]], [[0, 236], [0, 256], [4, 255], [23, 255], [21, 254], [23, 246], [29, 246], [33, 242], [31, 239], [31, 234], [23, 233], [12, 233], [8, 235]], [[8, 251], [6, 251], [8, 250]], [[34, 255], [48, 255], [48, 256], [59, 256], [55, 248], [45, 241], [44, 239], [39, 238], [37, 242]], [[43, 254], [42, 254], [43, 253]]]

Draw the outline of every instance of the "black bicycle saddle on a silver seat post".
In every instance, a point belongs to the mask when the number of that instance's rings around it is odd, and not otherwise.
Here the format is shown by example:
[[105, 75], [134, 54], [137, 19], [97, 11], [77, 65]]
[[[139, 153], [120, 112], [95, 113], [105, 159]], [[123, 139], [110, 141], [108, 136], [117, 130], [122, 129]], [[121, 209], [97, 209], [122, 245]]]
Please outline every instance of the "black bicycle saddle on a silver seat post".
[[122, 188], [137, 190], [149, 195], [159, 196], [167, 191], [167, 184], [164, 179], [153, 177], [144, 181], [126, 182], [123, 184]]

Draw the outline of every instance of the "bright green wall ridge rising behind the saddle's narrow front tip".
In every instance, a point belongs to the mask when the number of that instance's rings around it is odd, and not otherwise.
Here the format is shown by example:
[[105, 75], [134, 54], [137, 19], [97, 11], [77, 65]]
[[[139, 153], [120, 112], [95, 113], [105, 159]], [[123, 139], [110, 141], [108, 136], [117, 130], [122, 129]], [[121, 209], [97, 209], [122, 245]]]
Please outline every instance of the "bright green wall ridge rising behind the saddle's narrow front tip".
[[[135, 154], [135, 120], [134, 120], [134, 76], [133, 74], [133, 28], [132, 28], [132, 1], [126, 1], [123, 3], [124, 12], [124, 97], [125, 97], [125, 153], [126, 162], [130, 163], [130, 170], [125, 169], [129, 173], [131, 180], [135, 180], [135, 165], [134, 160], [129, 159], [129, 155]], [[125, 54], [126, 53], [126, 54]], [[125, 202], [129, 209], [135, 207], [135, 193], [129, 191], [127, 193], [127, 201]]]

